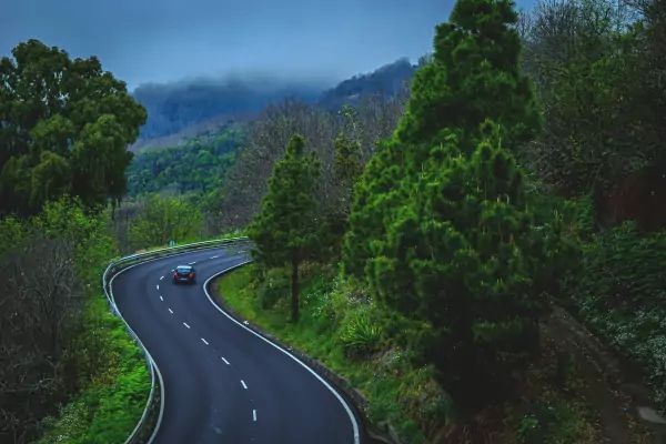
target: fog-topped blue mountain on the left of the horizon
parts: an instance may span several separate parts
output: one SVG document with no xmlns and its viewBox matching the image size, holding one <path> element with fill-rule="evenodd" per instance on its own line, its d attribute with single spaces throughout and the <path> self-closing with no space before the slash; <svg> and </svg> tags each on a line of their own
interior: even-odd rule
<svg viewBox="0 0 666 444">
<path fill-rule="evenodd" d="M 226 122 L 246 118 L 285 98 L 314 102 L 322 90 L 306 83 L 259 78 L 140 85 L 132 94 L 147 109 L 148 121 L 138 142 L 175 134 L 211 120 Z"/>
</svg>

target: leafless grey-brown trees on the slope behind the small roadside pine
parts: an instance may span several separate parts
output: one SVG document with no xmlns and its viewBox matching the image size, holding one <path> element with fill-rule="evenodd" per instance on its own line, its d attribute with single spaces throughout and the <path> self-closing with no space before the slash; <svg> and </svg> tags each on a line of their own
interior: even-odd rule
<svg viewBox="0 0 666 444">
<path fill-rule="evenodd" d="M 294 100 L 269 107 L 253 122 L 248 142 L 225 178 L 221 208 L 215 215 L 220 221 L 219 229 L 243 226 L 252 219 L 265 193 L 273 164 L 282 158 L 293 134 L 303 135 L 306 147 L 319 155 L 322 162 L 319 201 L 324 212 L 335 211 L 343 193 L 334 171 L 335 139 L 342 133 L 357 141 L 365 162 L 377 140 L 389 137 L 395 129 L 405 98 L 406 93 L 392 99 L 362 98 L 354 107 L 353 121 L 341 113 Z"/>
</svg>

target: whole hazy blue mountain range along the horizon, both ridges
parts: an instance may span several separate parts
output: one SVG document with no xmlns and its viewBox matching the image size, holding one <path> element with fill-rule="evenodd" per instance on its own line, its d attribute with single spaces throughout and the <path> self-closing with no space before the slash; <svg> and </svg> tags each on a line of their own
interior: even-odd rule
<svg viewBox="0 0 666 444">
<path fill-rule="evenodd" d="M 186 137 L 219 128 L 229 121 L 252 119 L 268 104 L 285 99 L 299 99 L 335 110 L 364 95 L 395 95 L 404 90 L 415 69 L 408 59 L 402 58 L 336 85 L 321 80 L 275 79 L 270 74 L 143 84 L 133 92 L 148 110 L 148 122 L 141 129 L 137 147 L 147 140 L 186 132 L 182 134 L 184 137 L 168 140 L 178 144 Z"/>
</svg>

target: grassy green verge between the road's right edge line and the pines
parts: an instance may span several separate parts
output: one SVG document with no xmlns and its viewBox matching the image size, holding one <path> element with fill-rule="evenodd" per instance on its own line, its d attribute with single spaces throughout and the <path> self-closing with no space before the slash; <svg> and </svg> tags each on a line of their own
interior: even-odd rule
<svg viewBox="0 0 666 444">
<path fill-rule="evenodd" d="M 337 340 L 339 325 L 329 309 L 334 292 L 331 275 L 311 274 L 302 282 L 301 316 L 289 322 L 287 297 L 272 309 L 262 309 L 252 284 L 254 265 L 248 265 L 218 280 L 216 294 L 235 313 L 282 342 L 313 357 L 340 376 L 367 400 L 367 417 L 375 426 L 387 424 L 408 443 L 424 443 L 426 436 L 410 411 L 411 392 L 422 383 L 423 371 L 405 365 L 401 353 L 384 350 L 350 357 Z M 420 396 L 423 394 L 420 393 Z"/>
</svg>

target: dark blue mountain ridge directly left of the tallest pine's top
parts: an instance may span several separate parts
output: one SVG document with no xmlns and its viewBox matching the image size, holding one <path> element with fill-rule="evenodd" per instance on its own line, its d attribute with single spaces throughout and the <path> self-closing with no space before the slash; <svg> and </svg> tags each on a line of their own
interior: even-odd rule
<svg viewBox="0 0 666 444">
<path fill-rule="evenodd" d="M 363 95 L 396 95 L 407 87 L 416 68 L 408 59 L 398 59 L 369 74 L 354 75 L 342 81 L 337 87 L 324 92 L 319 104 L 334 110 L 344 103 L 353 104 Z"/>
</svg>

